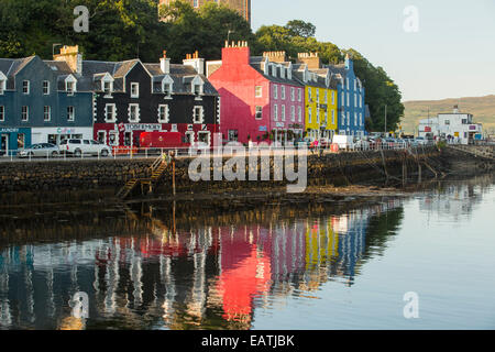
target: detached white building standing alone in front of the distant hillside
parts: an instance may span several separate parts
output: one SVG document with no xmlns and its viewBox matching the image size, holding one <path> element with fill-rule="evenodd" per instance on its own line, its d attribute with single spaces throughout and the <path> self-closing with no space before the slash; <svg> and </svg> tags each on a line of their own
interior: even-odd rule
<svg viewBox="0 0 495 352">
<path fill-rule="evenodd" d="M 451 143 L 470 144 L 481 139 L 483 125 L 473 122 L 471 113 L 459 112 L 455 106 L 452 113 L 439 113 L 437 118 L 419 121 L 419 136 L 450 140 Z"/>
</svg>

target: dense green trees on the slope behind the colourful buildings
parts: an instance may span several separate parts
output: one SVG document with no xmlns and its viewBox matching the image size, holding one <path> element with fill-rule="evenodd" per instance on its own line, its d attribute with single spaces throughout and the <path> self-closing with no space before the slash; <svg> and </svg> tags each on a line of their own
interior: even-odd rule
<svg viewBox="0 0 495 352">
<path fill-rule="evenodd" d="M 88 33 L 74 31 L 74 9 L 78 6 L 89 9 Z M 170 21 L 160 21 L 158 12 Z M 300 52 L 318 52 L 326 64 L 340 63 L 349 53 L 366 89 L 365 103 L 372 116 L 366 129 L 384 130 L 386 105 L 387 130 L 394 130 L 404 114 L 394 80 L 359 51 L 319 42 L 315 33 L 315 25 L 300 20 L 285 26 L 264 25 L 253 33 L 240 14 L 215 2 L 195 11 L 183 1 L 158 9 L 157 0 L 0 0 L 0 57 L 36 54 L 50 59 L 53 44 L 77 44 L 86 59 L 139 57 L 154 63 L 166 50 L 167 56 L 179 63 L 196 51 L 206 59 L 219 59 L 227 38 L 248 41 L 253 55 L 286 51 L 294 59 Z"/>
</svg>

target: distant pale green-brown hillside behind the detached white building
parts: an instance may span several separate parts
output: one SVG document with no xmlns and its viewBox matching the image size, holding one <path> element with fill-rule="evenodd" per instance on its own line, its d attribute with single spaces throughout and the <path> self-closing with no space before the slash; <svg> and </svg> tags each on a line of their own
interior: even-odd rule
<svg viewBox="0 0 495 352">
<path fill-rule="evenodd" d="M 474 121 L 483 123 L 483 129 L 493 131 L 495 134 L 495 95 L 472 98 L 453 98 L 443 100 L 417 100 L 406 101 L 404 119 L 402 121 L 403 130 L 415 132 L 419 120 L 430 117 L 437 117 L 440 112 L 451 112 L 454 106 L 465 113 L 472 113 Z"/>
</svg>

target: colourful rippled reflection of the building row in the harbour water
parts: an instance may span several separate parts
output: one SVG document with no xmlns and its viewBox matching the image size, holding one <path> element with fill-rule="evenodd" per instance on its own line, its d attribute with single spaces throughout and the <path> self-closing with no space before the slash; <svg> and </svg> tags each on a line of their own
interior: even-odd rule
<svg viewBox="0 0 495 352">
<path fill-rule="evenodd" d="M 95 319 L 67 318 L 81 290 L 90 317 L 117 328 L 249 329 L 268 296 L 315 290 L 333 276 L 352 283 L 370 218 L 397 206 L 176 233 L 155 221 L 153 235 L 11 246 L 0 252 L 0 324 L 91 328 Z"/>
</svg>

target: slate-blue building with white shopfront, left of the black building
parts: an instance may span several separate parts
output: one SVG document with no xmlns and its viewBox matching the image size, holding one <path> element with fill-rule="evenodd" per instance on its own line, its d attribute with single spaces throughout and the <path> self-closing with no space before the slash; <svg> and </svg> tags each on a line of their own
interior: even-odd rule
<svg viewBox="0 0 495 352">
<path fill-rule="evenodd" d="M 0 153 L 92 139 L 91 86 L 78 73 L 77 58 L 70 66 L 38 56 L 0 58 Z"/>
</svg>

